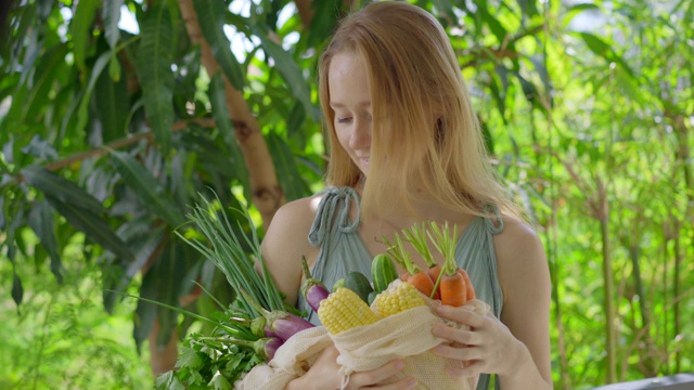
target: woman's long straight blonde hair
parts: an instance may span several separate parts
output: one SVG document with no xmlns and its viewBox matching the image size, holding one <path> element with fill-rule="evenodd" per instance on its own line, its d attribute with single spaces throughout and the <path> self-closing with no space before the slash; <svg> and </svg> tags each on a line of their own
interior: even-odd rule
<svg viewBox="0 0 694 390">
<path fill-rule="evenodd" d="M 329 185 L 357 186 L 361 172 L 340 146 L 330 107 L 331 60 L 363 58 L 373 129 L 364 212 L 410 207 L 415 191 L 451 210 L 485 214 L 486 205 L 518 216 L 497 180 L 458 60 L 441 25 L 399 1 L 374 2 L 347 16 L 319 63 L 319 96 L 330 142 Z M 376 211 L 377 210 L 377 211 Z"/>
</svg>

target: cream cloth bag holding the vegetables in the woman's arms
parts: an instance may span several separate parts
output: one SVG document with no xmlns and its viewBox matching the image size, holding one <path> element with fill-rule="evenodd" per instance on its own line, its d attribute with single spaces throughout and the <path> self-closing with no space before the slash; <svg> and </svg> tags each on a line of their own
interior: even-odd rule
<svg viewBox="0 0 694 390">
<path fill-rule="evenodd" d="M 272 361 L 255 366 L 237 380 L 234 389 L 283 390 L 292 379 L 304 375 L 323 350 L 333 343 L 339 351 L 337 363 L 342 365 L 343 387 L 349 384 L 349 377 L 355 372 L 374 369 L 395 359 L 402 359 L 402 372 L 383 385 L 411 376 L 417 379 L 416 389 L 421 390 L 475 389 L 478 377 L 457 378 L 445 373 L 446 366 L 460 365 L 460 361 L 430 352 L 432 348 L 446 342 L 432 334 L 434 324 L 461 325 L 439 317 L 435 312 L 438 303 L 428 298 L 425 300 L 427 306 L 339 335 L 330 335 L 323 326 L 301 330 L 278 349 Z M 463 308 L 483 315 L 489 312 L 489 306 L 477 299 Z"/>
</svg>

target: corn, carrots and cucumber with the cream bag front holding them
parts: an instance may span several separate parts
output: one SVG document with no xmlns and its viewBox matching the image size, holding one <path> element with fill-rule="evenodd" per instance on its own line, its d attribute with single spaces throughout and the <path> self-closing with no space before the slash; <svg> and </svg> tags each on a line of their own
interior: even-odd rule
<svg viewBox="0 0 694 390">
<path fill-rule="evenodd" d="M 474 389 L 478 377 L 454 378 L 442 373 L 447 365 L 466 363 L 434 354 L 430 349 L 444 339 L 432 335 L 432 326 L 464 325 L 441 318 L 438 304 L 465 306 L 486 314 L 489 306 L 475 299 L 467 273 L 455 264 L 457 229 L 434 222 L 414 225 L 396 234 L 386 253 L 374 257 L 371 263 L 373 284 L 363 283 L 364 275 L 349 273 L 338 281 L 333 291 L 320 301 L 307 301 L 317 309 L 321 323 L 339 351 L 340 373 L 370 370 L 394 360 L 403 359 L 402 375 L 412 376 L 417 389 Z M 426 270 L 420 269 L 409 253 L 406 243 L 423 257 Z M 439 265 L 429 251 L 429 244 L 444 257 Z M 394 261 L 404 272 L 398 274 Z M 307 270 L 305 270 L 307 272 Z M 310 278 L 310 275 L 309 275 Z M 388 379 L 396 380 L 396 379 Z M 387 384 L 382 382 L 382 385 Z"/>
</svg>

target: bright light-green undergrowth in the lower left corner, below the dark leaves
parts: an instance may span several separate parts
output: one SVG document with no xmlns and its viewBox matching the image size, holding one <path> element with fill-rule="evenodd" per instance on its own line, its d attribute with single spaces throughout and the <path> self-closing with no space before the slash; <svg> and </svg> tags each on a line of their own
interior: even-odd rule
<svg viewBox="0 0 694 390">
<path fill-rule="evenodd" d="M 63 284 L 46 270 L 33 273 L 42 264 L 17 259 L 16 268 L 33 275 L 25 278 L 27 294 L 18 310 L 5 288 L 10 285 L 0 286 L 3 388 L 146 388 L 152 382 L 147 356 L 138 355 L 131 336 L 134 302 L 105 313 L 98 299 L 99 266 L 80 258 L 78 246 L 68 251 Z M 0 263 L 2 281 L 11 281 L 12 272 L 9 262 Z"/>
</svg>

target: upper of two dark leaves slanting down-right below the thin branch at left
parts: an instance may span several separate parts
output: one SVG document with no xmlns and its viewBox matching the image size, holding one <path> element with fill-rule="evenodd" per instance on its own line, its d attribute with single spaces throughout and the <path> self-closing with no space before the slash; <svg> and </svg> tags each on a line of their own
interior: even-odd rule
<svg viewBox="0 0 694 390">
<path fill-rule="evenodd" d="M 101 203 L 85 190 L 46 168 L 28 166 L 22 170 L 22 176 L 31 186 L 61 203 L 94 213 L 106 211 Z"/>
</svg>

